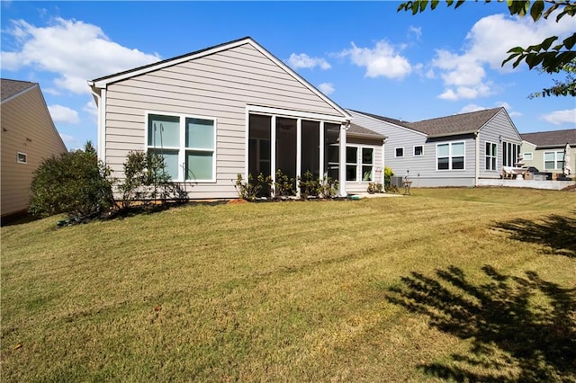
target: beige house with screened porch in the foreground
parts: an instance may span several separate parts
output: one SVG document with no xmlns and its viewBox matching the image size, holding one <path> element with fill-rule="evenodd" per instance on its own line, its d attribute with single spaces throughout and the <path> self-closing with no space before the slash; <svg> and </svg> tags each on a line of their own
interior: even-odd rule
<svg viewBox="0 0 576 383">
<path fill-rule="evenodd" d="M 163 156 L 193 199 L 238 198 L 237 174 L 383 182 L 383 136 L 247 37 L 88 83 L 98 156 L 122 178 L 130 151 Z M 273 145 L 273 143 L 275 143 Z M 380 177 L 380 178 L 378 178 Z"/>
</svg>

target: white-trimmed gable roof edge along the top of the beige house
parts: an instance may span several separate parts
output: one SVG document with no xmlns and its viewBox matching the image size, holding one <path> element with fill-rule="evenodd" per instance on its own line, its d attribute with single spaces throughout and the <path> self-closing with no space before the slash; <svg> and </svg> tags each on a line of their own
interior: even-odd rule
<svg viewBox="0 0 576 383">
<path fill-rule="evenodd" d="M 145 65 L 142 67 L 136 67 L 133 69 L 125 70 L 123 72 L 116 73 L 113 75 L 99 77 L 99 78 L 96 78 L 92 81 L 88 81 L 88 85 L 90 85 L 90 87 L 93 88 L 94 91 L 98 92 L 99 88 L 100 89 L 105 88 L 106 85 L 108 85 L 108 84 L 112 84 L 112 83 L 130 78 L 130 77 L 143 75 L 143 74 L 146 74 L 148 72 L 162 69 L 164 67 L 172 67 L 172 66 L 175 66 L 177 64 L 183 63 L 185 61 L 190 61 L 190 60 L 193 60 L 196 58 L 202 58 L 205 56 L 209 56 L 211 54 L 218 53 L 218 52 L 226 50 L 226 49 L 236 48 L 236 47 L 244 45 L 244 44 L 251 45 L 253 48 L 257 49 L 260 53 L 262 53 L 264 56 L 266 56 L 266 58 L 269 58 L 270 60 L 272 60 L 278 67 L 283 68 L 290 76 L 293 76 L 293 78 L 296 81 L 300 82 L 302 85 L 304 85 L 305 87 L 310 89 L 312 93 L 319 96 L 324 102 L 329 103 L 329 105 L 332 108 L 334 108 L 335 110 L 340 112 L 347 120 L 349 120 L 351 118 L 349 113 L 347 111 L 345 111 L 344 108 L 339 106 L 336 102 L 333 102 L 332 100 L 330 100 L 326 94 L 321 93 L 320 90 L 318 90 L 314 85 L 311 85 L 302 76 L 300 76 L 296 72 L 294 72 L 292 68 L 285 65 L 284 62 L 282 62 L 282 60 L 280 60 L 279 58 L 276 58 L 272 53 L 270 53 L 268 50 L 266 50 L 264 47 L 262 47 L 260 44 L 258 44 L 256 42 L 256 40 L 252 39 L 249 36 L 244 37 L 242 39 L 232 40 L 232 41 L 225 42 L 225 43 L 222 43 L 219 45 L 215 45 L 213 47 L 196 50 L 196 51 L 186 53 L 186 54 L 181 55 L 181 56 L 176 56 L 175 58 L 167 58 L 165 60 L 158 61 L 158 62 L 155 62 L 152 64 L 148 64 L 148 65 Z"/>
</svg>

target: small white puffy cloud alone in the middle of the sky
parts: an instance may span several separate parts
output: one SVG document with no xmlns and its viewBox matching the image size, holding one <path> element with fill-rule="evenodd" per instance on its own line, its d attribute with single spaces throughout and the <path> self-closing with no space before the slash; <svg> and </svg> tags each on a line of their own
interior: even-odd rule
<svg viewBox="0 0 576 383">
<path fill-rule="evenodd" d="M 374 48 L 359 48 L 352 42 L 351 49 L 345 49 L 339 54 L 349 57 L 358 67 L 366 68 L 366 77 L 387 77 L 402 79 L 410 75 L 412 67 L 408 58 L 401 56 L 387 41 L 377 41 Z"/>
</svg>

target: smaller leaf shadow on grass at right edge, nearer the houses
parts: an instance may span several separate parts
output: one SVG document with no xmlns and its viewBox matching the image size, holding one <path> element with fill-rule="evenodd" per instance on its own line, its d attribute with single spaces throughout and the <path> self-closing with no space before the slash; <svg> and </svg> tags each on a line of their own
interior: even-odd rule
<svg viewBox="0 0 576 383">
<path fill-rule="evenodd" d="M 576 218 L 552 215 L 542 222 L 514 219 L 500 222 L 496 228 L 512 239 L 549 246 L 553 254 L 576 257 Z"/>
</svg>

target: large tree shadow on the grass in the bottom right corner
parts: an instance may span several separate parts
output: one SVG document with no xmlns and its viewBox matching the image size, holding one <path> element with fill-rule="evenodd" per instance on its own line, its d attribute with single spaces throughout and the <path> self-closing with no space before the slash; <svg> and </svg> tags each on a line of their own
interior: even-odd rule
<svg viewBox="0 0 576 383">
<path fill-rule="evenodd" d="M 429 317 L 430 325 L 470 343 L 446 362 L 419 366 L 456 381 L 576 381 L 576 288 L 518 278 L 491 266 L 484 284 L 467 281 L 455 266 L 433 278 L 412 272 L 388 300 Z"/>
</svg>

